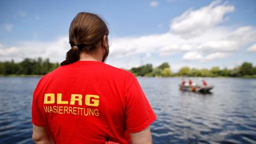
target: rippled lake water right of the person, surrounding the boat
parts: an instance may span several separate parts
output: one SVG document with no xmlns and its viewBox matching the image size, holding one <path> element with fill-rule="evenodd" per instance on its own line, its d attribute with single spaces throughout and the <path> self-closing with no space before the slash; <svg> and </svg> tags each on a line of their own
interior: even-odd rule
<svg viewBox="0 0 256 144">
<path fill-rule="evenodd" d="M 255 79 L 207 78 L 207 94 L 178 91 L 178 78 L 138 79 L 158 116 L 154 143 L 256 142 Z"/>
</svg>

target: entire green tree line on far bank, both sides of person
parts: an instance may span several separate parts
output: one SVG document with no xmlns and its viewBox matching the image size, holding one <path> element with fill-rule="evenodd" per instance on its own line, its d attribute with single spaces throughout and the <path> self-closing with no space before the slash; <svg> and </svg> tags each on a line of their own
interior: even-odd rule
<svg viewBox="0 0 256 144">
<path fill-rule="evenodd" d="M 58 62 L 51 63 L 49 59 L 42 58 L 30 59 L 26 58 L 21 62 L 4 61 L 0 62 L 1 76 L 31 76 L 31 75 L 45 75 L 50 71 L 58 68 Z M 256 78 L 256 66 L 251 62 L 244 62 L 241 66 L 233 69 L 220 69 L 219 67 L 212 67 L 211 69 L 196 69 L 189 67 L 182 67 L 177 73 L 171 71 L 170 65 L 167 62 L 153 68 L 151 64 L 146 64 L 140 67 L 131 68 L 129 71 L 135 76 L 147 77 L 175 77 L 175 76 L 190 76 L 190 77 L 253 77 Z"/>
</svg>

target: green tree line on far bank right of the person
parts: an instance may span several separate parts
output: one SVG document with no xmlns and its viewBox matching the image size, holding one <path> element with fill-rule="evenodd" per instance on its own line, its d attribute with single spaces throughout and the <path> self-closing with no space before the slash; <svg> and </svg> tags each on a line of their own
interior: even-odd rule
<svg viewBox="0 0 256 144">
<path fill-rule="evenodd" d="M 211 69 L 197 69 L 188 66 L 181 67 L 177 73 L 171 71 L 170 65 L 167 62 L 153 68 L 151 64 L 146 64 L 140 67 L 134 67 L 129 70 L 135 76 L 149 77 L 173 77 L 173 76 L 190 76 L 190 77 L 255 77 L 256 66 L 251 62 L 243 62 L 242 65 L 233 69 L 212 67 Z"/>
</svg>

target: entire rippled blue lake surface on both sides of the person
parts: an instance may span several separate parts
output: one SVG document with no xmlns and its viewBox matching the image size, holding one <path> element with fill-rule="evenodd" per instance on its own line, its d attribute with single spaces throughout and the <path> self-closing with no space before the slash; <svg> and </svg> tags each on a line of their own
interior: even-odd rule
<svg viewBox="0 0 256 144">
<path fill-rule="evenodd" d="M 39 78 L 0 77 L 0 143 L 33 143 Z M 211 94 L 182 92 L 179 78 L 138 77 L 157 115 L 154 143 L 256 143 L 256 79 L 205 79 L 215 86 Z"/>
</svg>

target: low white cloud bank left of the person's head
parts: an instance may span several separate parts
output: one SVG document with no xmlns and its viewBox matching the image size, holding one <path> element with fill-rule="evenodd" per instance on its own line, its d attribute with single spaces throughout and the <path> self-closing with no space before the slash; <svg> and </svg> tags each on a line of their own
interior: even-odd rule
<svg viewBox="0 0 256 144">
<path fill-rule="evenodd" d="M 61 37 L 53 42 L 24 41 L 15 46 L 0 45 L 1 61 L 14 59 L 21 61 L 24 58 L 50 58 L 53 62 L 65 60 L 67 51 L 70 49 L 68 37 Z"/>
</svg>

